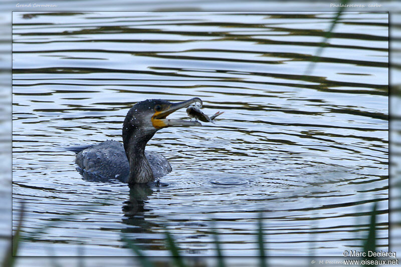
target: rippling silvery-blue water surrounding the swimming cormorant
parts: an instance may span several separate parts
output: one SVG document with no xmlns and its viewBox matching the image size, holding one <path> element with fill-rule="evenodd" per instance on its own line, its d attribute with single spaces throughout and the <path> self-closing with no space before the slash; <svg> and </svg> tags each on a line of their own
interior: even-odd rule
<svg viewBox="0 0 401 267">
<path fill-rule="evenodd" d="M 345 13 L 13 13 L 13 202 L 21 255 L 334 255 L 362 244 L 373 202 L 388 250 L 388 15 Z M 137 101 L 199 97 L 216 124 L 170 127 L 168 186 L 131 189 L 75 170 L 68 146 L 121 140 Z M 184 110 L 171 115 L 185 118 Z M 14 216 L 14 222 L 17 216 Z M 216 223 L 213 224 L 212 221 Z M 52 250 L 50 250 L 52 249 Z"/>
</svg>

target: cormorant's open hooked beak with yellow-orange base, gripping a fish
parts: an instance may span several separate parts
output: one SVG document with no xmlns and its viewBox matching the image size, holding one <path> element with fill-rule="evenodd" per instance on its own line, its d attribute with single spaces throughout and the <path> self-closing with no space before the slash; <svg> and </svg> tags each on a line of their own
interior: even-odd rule
<svg viewBox="0 0 401 267">
<path fill-rule="evenodd" d="M 202 107 L 202 100 L 198 97 L 191 98 L 186 101 L 178 102 L 178 103 L 171 103 L 171 105 L 164 108 L 162 111 L 156 111 L 152 116 L 152 125 L 156 129 L 161 129 L 169 126 L 202 126 L 197 121 L 185 121 L 185 120 L 178 120 L 178 119 L 166 119 L 168 115 L 177 111 L 182 108 L 186 108 L 189 105 L 199 102 Z"/>
</svg>

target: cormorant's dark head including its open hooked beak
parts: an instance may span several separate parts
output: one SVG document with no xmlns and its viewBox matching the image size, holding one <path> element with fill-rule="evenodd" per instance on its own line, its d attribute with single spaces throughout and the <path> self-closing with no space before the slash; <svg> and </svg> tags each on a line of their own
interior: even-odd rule
<svg viewBox="0 0 401 267">
<path fill-rule="evenodd" d="M 169 126 L 202 126 L 197 121 L 167 119 L 167 116 L 174 111 L 186 108 L 196 102 L 202 105 L 202 100 L 197 97 L 179 103 L 171 103 L 162 99 L 148 99 L 138 102 L 125 117 L 123 135 L 124 132 L 132 130 L 132 128 L 142 130 L 147 134 L 154 134 L 156 131 Z"/>
</svg>

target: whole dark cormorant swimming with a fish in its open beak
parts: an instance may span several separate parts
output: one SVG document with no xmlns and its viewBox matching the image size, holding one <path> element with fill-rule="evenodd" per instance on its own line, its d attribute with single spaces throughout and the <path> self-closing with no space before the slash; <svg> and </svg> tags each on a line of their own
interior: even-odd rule
<svg viewBox="0 0 401 267">
<path fill-rule="evenodd" d="M 122 127 L 123 144 L 107 140 L 80 151 L 79 168 L 94 176 L 126 183 L 147 183 L 171 171 L 170 163 L 158 153 L 145 151 L 146 143 L 160 129 L 169 126 L 202 126 L 197 121 L 166 119 L 174 111 L 202 100 L 195 97 L 179 103 L 150 99 L 136 103 Z"/>
</svg>

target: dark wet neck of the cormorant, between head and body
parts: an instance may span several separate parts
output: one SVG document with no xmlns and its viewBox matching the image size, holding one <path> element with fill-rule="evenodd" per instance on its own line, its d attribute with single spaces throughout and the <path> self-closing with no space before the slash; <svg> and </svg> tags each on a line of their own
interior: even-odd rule
<svg viewBox="0 0 401 267">
<path fill-rule="evenodd" d="M 123 125 L 123 143 L 125 154 L 129 162 L 128 183 L 147 183 L 154 180 L 152 169 L 145 156 L 145 146 L 153 137 L 153 133 L 146 133 L 144 130 L 132 124 Z"/>
</svg>

